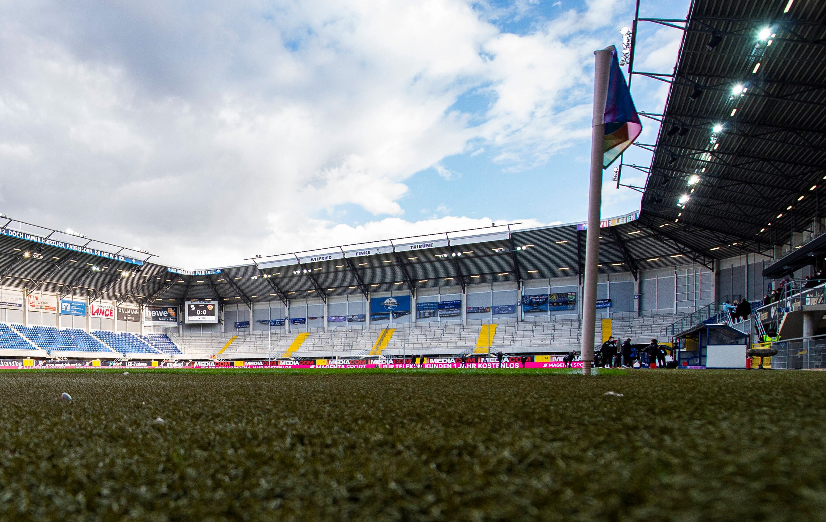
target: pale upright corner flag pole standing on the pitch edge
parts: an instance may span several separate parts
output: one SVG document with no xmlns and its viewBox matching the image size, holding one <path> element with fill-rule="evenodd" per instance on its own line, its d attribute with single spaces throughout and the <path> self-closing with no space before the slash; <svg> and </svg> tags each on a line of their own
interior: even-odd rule
<svg viewBox="0 0 826 522">
<path fill-rule="evenodd" d="M 594 116 L 591 122 L 591 186 L 588 192 L 588 230 L 585 243 L 585 283 L 582 288 L 582 374 L 591 375 L 596 330 L 596 276 L 600 259 L 602 159 L 605 154 L 605 99 L 608 97 L 611 50 L 594 51 Z"/>
</svg>

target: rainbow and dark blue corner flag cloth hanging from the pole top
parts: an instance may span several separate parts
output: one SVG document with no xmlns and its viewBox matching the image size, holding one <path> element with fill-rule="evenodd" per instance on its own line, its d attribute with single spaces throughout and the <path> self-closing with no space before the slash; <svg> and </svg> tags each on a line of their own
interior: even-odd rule
<svg viewBox="0 0 826 522">
<path fill-rule="evenodd" d="M 602 168 L 614 163 L 629 145 L 634 143 L 643 124 L 639 122 L 634 100 L 622 69 L 619 69 L 616 47 L 611 45 L 611 69 L 608 74 L 608 96 L 605 98 L 605 154 L 602 156 Z"/>
</svg>

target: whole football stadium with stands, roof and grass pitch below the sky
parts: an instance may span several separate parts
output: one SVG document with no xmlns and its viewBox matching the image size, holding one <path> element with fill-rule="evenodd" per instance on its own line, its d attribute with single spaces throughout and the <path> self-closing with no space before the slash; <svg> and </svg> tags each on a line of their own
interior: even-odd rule
<svg viewBox="0 0 826 522">
<path fill-rule="evenodd" d="M 820 520 L 824 21 L 638 14 L 622 74 L 667 97 L 599 227 L 209 268 L 3 215 L 2 518 Z M 645 24 L 681 31 L 672 70 L 634 64 Z"/>
</svg>

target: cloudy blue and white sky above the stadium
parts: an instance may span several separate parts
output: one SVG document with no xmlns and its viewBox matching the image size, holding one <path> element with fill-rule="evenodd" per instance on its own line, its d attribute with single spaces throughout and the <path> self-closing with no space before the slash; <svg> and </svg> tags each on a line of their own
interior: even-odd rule
<svg viewBox="0 0 826 522">
<path fill-rule="evenodd" d="M 687 4 L 643 0 L 641 16 Z M 584 221 L 592 51 L 621 46 L 633 7 L 2 2 L 0 211 L 191 269 Z M 671 72 L 681 31 L 638 32 L 635 69 Z M 634 78 L 638 109 L 661 110 L 666 88 Z M 638 208 L 605 184 L 603 216 Z"/>
</svg>

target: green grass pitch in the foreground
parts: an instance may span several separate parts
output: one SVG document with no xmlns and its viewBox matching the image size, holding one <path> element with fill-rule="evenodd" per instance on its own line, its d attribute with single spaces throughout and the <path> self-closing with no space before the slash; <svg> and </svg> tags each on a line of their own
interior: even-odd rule
<svg viewBox="0 0 826 522">
<path fill-rule="evenodd" d="M 0 520 L 826 520 L 824 447 L 816 372 L 0 373 Z"/>
</svg>

